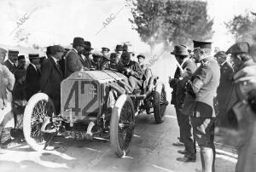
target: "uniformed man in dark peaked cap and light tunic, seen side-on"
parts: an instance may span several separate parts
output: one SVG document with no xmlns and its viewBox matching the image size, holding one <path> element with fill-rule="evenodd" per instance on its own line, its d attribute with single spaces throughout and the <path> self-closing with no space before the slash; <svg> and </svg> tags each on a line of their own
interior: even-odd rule
<svg viewBox="0 0 256 172">
<path fill-rule="evenodd" d="M 215 96 L 220 78 L 218 62 L 213 59 L 211 51 L 212 43 L 194 41 L 195 62 L 201 62 L 201 66 L 187 84 L 188 95 L 192 96 L 193 103 L 186 105 L 187 97 L 184 100 L 184 108 L 190 108 L 188 115 L 190 115 L 195 141 L 200 147 L 204 172 L 214 171 Z"/>
</svg>

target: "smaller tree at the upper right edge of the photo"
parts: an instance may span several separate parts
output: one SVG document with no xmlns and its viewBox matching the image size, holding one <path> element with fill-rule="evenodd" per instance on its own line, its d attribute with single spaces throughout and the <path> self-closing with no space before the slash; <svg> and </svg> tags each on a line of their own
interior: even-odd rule
<svg viewBox="0 0 256 172">
<path fill-rule="evenodd" d="M 253 12 L 236 15 L 225 25 L 235 37 L 236 42 L 247 41 L 252 43 L 254 37 L 256 37 L 256 14 Z"/>
</svg>

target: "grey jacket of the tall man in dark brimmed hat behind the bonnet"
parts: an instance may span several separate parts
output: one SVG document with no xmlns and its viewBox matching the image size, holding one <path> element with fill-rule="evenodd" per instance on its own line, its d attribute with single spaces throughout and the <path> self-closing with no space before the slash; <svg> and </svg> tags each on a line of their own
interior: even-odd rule
<svg viewBox="0 0 256 172">
<path fill-rule="evenodd" d="M 84 66 L 83 62 L 82 57 L 74 49 L 70 49 L 65 58 L 65 77 L 79 71 Z"/>
</svg>

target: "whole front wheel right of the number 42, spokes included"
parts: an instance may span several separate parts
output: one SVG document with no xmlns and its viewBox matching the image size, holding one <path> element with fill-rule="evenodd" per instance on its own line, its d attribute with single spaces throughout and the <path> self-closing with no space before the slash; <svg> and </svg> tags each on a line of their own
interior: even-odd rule
<svg viewBox="0 0 256 172">
<path fill-rule="evenodd" d="M 120 95 L 110 121 L 110 143 L 119 157 L 130 151 L 135 127 L 135 111 L 129 95 Z"/>
</svg>

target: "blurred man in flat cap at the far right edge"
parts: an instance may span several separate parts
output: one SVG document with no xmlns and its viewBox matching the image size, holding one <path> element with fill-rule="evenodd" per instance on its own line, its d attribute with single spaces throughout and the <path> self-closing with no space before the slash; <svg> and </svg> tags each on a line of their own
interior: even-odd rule
<svg viewBox="0 0 256 172">
<path fill-rule="evenodd" d="M 249 43 L 235 43 L 226 53 L 238 59 L 241 65 L 234 74 L 235 84 L 230 88 L 231 93 L 226 95 L 226 113 L 219 117 L 217 135 L 224 138 L 225 144 L 236 147 L 236 172 L 255 171 L 256 63 L 250 55 Z"/>
</svg>

